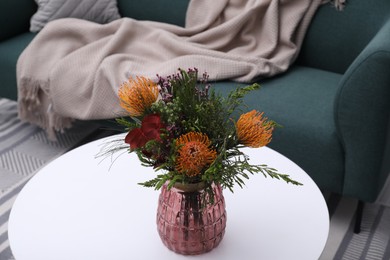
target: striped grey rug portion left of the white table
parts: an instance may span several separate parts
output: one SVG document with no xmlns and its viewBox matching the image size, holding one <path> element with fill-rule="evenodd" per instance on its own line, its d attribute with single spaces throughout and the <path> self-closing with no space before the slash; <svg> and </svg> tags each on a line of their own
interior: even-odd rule
<svg viewBox="0 0 390 260">
<path fill-rule="evenodd" d="M 17 118 L 16 102 L 0 98 L 0 260 L 13 259 L 8 243 L 7 222 L 17 194 L 42 166 L 77 146 L 97 131 L 97 125 L 76 123 L 57 136 Z"/>
</svg>

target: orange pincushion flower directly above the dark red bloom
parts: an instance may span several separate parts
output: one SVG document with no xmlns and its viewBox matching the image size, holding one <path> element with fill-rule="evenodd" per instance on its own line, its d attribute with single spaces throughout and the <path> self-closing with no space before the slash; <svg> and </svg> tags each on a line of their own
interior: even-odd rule
<svg viewBox="0 0 390 260">
<path fill-rule="evenodd" d="M 158 86 L 149 78 L 129 78 L 118 91 L 119 104 L 130 116 L 142 116 L 158 98 Z"/>
</svg>

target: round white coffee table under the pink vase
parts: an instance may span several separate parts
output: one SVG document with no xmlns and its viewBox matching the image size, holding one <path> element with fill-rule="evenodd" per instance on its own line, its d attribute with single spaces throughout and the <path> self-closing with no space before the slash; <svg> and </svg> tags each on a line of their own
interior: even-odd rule
<svg viewBox="0 0 390 260">
<path fill-rule="evenodd" d="M 122 154 L 113 164 L 95 159 L 104 142 L 59 157 L 20 192 L 9 219 L 16 260 L 189 258 L 160 241 L 155 223 L 159 191 L 137 185 L 154 171 L 133 154 Z M 268 164 L 304 186 L 255 175 L 244 189 L 224 191 L 225 237 L 213 251 L 191 259 L 318 259 L 329 230 L 320 190 L 281 154 L 269 148 L 246 152 L 252 163 Z"/>
</svg>

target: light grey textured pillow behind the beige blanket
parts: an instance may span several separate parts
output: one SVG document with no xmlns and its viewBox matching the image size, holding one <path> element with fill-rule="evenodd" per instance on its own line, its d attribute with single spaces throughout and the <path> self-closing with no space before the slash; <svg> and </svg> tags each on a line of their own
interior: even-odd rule
<svg viewBox="0 0 390 260">
<path fill-rule="evenodd" d="M 35 0 L 38 11 L 31 17 L 31 32 L 40 31 L 48 22 L 65 17 L 108 23 L 119 19 L 116 0 Z"/>
</svg>

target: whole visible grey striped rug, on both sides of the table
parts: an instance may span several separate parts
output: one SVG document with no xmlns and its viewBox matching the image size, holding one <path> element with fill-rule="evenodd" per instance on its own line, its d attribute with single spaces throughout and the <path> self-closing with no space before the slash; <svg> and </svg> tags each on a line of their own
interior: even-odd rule
<svg viewBox="0 0 390 260">
<path fill-rule="evenodd" d="M 15 102 L 0 99 L 0 260 L 14 259 L 7 237 L 7 222 L 12 204 L 24 184 L 43 165 L 81 144 L 81 140 L 95 130 L 96 126 L 79 124 L 59 135 L 58 142 L 51 142 L 41 129 L 17 119 Z M 104 134 L 89 139 L 102 136 Z M 362 231 L 357 235 L 353 233 L 357 201 L 326 192 L 324 197 L 331 221 L 321 260 L 390 260 L 390 207 L 366 204 Z"/>
</svg>

